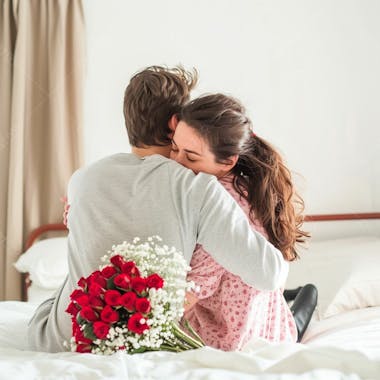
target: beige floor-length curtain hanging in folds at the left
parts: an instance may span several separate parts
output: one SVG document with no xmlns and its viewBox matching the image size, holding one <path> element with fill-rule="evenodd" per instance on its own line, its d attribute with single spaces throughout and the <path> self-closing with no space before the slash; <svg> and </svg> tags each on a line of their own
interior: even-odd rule
<svg viewBox="0 0 380 380">
<path fill-rule="evenodd" d="M 29 232 L 60 222 L 82 163 L 81 0 L 0 0 L 0 299 L 20 299 L 13 263 Z"/>
</svg>

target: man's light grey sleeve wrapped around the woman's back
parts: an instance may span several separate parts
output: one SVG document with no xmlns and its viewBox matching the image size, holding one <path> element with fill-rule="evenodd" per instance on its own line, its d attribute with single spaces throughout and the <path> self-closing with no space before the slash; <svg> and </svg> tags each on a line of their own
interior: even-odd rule
<svg viewBox="0 0 380 380">
<path fill-rule="evenodd" d="M 280 287 L 289 270 L 281 252 L 251 229 L 242 209 L 216 178 L 210 179 L 203 194 L 197 242 L 246 284 L 261 290 Z"/>
</svg>

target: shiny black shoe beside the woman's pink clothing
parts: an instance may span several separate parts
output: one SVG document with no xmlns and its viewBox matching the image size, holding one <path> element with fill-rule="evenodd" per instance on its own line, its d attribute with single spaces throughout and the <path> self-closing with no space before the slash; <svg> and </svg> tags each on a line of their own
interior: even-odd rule
<svg viewBox="0 0 380 380">
<path fill-rule="evenodd" d="M 317 301 L 317 288 L 312 284 L 307 284 L 303 286 L 301 290 L 298 292 L 292 306 L 290 307 L 290 310 L 293 313 L 294 320 L 297 326 L 297 342 L 301 341 L 303 334 L 305 333 L 306 328 L 309 325 L 315 307 L 317 306 Z"/>
</svg>

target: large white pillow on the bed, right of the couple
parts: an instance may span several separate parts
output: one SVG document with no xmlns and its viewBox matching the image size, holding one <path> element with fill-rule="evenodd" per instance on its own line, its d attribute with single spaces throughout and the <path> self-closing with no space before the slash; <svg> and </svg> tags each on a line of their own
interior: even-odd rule
<svg viewBox="0 0 380 380">
<path fill-rule="evenodd" d="M 363 236 L 317 241 L 290 263 L 286 288 L 313 283 L 320 319 L 380 306 L 380 238 Z"/>
</svg>

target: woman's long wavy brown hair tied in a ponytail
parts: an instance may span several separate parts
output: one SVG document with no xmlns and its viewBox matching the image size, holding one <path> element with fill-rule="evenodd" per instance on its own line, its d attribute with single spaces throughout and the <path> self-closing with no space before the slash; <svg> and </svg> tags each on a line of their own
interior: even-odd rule
<svg viewBox="0 0 380 380">
<path fill-rule="evenodd" d="M 286 260 L 298 258 L 297 243 L 309 237 L 301 230 L 303 200 L 280 154 L 253 134 L 240 102 L 223 94 L 202 96 L 183 107 L 180 119 L 206 139 L 216 162 L 239 156 L 232 169 L 233 186 L 249 202 L 251 219 L 262 223 Z"/>
</svg>

